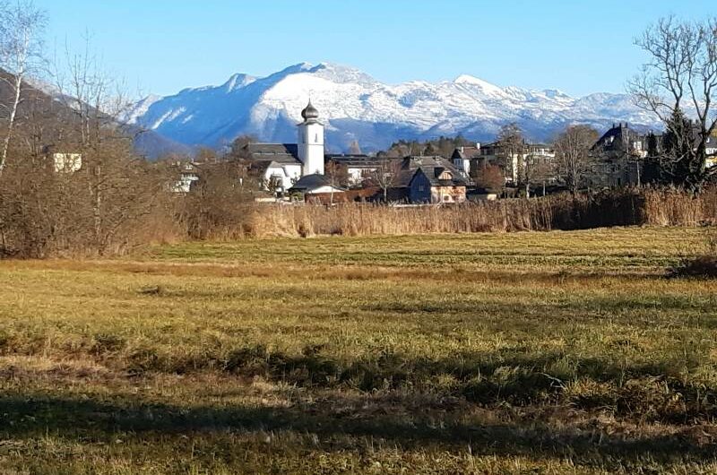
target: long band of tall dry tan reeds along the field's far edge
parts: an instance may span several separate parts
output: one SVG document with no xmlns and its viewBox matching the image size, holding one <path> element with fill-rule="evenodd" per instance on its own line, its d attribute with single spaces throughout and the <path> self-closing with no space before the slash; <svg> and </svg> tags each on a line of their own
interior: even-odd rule
<svg viewBox="0 0 717 475">
<path fill-rule="evenodd" d="M 370 203 L 335 206 L 261 205 L 246 212 L 235 232 L 244 236 L 371 236 L 424 233 L 547 231 L 610 226 L 696 226 L 717 222 L 717 190 L 692 196 L 678 190 L 625 189 L 459 205 L 393 207 Z"/>
</svg>

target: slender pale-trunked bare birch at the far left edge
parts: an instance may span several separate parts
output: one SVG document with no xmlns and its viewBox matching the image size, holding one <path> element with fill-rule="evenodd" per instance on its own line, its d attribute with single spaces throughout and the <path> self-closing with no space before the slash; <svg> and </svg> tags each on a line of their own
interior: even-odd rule
<svg viewBox="0 0 717 475">
<path fill-rule="evenodd" d="M 9 74 L 0 75 L 0 81 L 10 88 L 12 94 L 10 104 L 2 105 L 7 114 L 7 125 L 0 150 L 0 174 L 7 161 L 25 82 L 31 74 L 38 73 L 43 63 L 42 34 L 46 24 L 45 11 L 30 0 L 21 0 L 12 6 L 0 4 L 0 67 Z"/>
</svg>

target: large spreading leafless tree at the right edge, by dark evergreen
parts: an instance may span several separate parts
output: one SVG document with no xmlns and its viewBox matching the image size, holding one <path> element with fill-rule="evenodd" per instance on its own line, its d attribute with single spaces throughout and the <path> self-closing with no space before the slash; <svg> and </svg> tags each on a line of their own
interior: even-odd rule
<svg viewBox="0 0 717 475">
<path fill-rule="evenodd" d="M 713 108 L 717 89 L 717 18 L 705 22 L 680 22 L 663 18 L 635 39 L 650 57 L 629 83 L 635 102 L 660 117 L 666 133 L 678 143 L 660 159 L 679 185 L 699 193 L 717 168 L 707 167 L 707 141 L 717 125 Z M 696 121 L 684 126 L 674 120 L 680 111 Z M 687 130 L 684 130 L 686 129 Z"/>
</svg>

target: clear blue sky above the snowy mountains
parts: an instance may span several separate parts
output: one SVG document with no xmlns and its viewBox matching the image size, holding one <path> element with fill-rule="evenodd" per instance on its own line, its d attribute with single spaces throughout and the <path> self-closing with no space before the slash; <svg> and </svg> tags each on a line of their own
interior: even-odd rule
<svg viewBox="0 0 717 475">
<path fill-rule="evenodd" d="M 352 65 L 383 82 L 453 80 L 573 95 L 624 91 L 643 62 L 633 39 L 713 0 L 36 0 L 48 46 L 82 47 L 143 93 L 171 94 L 303 61 Z"/>
</svg>

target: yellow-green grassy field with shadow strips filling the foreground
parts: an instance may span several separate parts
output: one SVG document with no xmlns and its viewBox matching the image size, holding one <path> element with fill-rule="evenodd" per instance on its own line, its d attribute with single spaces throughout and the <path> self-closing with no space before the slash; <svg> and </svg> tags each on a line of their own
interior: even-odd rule
<svg viewBox="0 0 717 475">
<path fill-rule="evenodd" d="M 717 472 L 700 229 L 0 263 L 0 473 Z"/>
</svg>

